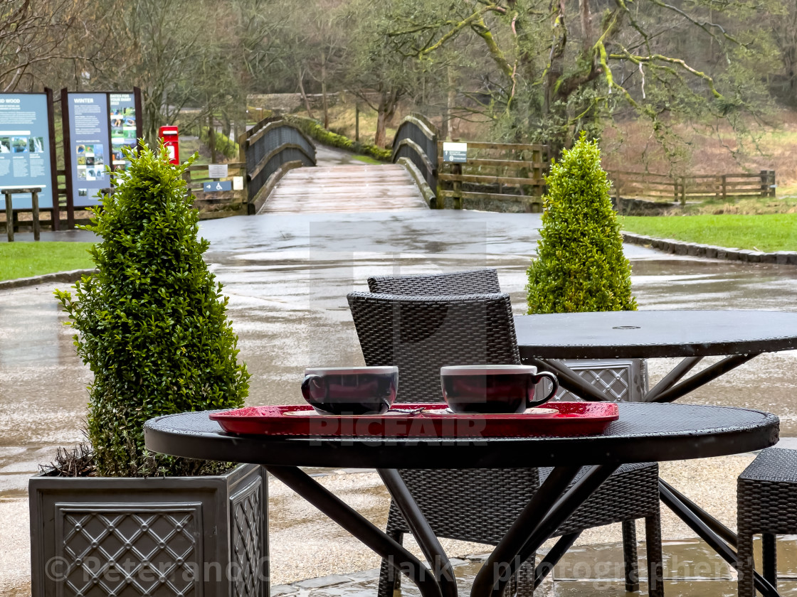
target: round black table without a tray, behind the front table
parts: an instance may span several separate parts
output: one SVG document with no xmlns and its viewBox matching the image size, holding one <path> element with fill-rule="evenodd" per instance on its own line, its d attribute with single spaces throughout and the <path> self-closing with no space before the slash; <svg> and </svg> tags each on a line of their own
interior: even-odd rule
<svg viewBox="0 0 797 597">
<path fill-rule="evenodd" d="M 515 318 L 521 359 L 552 371 L 584 400 L 611 400 L 560 359 L 682 357 L 644 396 L 672 402 L 761 353 L 797 349 L 797 313 L 756 310 L 650 310 L 521 315 Z M 705 357 L 724 359 L 682 380 Z M 728 564 L 736 535 L 667 483 L 662 501 Z M 773 591 L 765 594 L 776 595 Z"/>
</svg>

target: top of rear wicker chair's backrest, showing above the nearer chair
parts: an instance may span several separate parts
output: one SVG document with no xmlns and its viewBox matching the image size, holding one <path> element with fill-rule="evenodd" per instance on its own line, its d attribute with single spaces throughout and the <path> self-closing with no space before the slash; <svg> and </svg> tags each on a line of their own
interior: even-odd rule
<svg viewBox="0 0 797 597">
<path fill-rule="evenodd" d="M 482 295 L 501 292 L 494 269 L 448 274 L 375 275 L 368 290 L 380 295 Z"/>
</svg>

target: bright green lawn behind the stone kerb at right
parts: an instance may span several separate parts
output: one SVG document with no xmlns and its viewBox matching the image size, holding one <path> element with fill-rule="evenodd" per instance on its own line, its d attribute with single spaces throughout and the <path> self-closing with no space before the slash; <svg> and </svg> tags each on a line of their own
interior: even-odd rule
<svg viewBox="0 0 797 597">
<path fill-rule="evenodd" d="M 620 217 L 620 222 L 627 232 L 658 238 L 764 252 L 797 251 L 797 213 Z"/>
</svg>

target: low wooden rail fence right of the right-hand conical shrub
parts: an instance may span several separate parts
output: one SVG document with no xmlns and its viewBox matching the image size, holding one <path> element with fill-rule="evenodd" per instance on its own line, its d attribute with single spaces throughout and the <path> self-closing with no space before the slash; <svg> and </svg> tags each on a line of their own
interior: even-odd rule
<svg viewBox="0 0 797 597">
<path fill-rule="evenodd" d="M 758 174 L 701 174 L 671 177 L 646 172 L 608 172 L 615 197 L 648 197 L 665 201 L 727 199 L 728 197 L 775 197 L 775 170 Z"/>
</svg>

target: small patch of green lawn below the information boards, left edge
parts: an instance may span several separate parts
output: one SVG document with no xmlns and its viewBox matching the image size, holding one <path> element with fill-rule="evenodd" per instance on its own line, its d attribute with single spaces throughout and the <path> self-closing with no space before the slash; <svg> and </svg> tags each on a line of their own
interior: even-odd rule
<svg viewBox="0 0 797 597">
<path fill-rule="evenodd" d="M 0 243 L 0 280 L 94 267 L 91 243 Z"/>
</svg>

